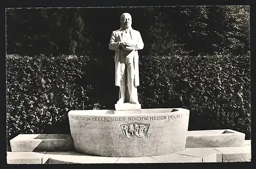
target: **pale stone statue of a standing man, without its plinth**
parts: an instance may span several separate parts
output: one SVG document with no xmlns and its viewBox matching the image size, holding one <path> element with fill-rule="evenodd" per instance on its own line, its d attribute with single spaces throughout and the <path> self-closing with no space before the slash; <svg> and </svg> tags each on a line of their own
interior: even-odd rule
<svg viewBox="0 0 256 169">
<path fill-rule="evenodd" d="M 139 31 L 132 29 L 132 16 L 123 13 L 121 27 L 113 31 L 109 49 L 115 50 L 115 85 L 119 87 L 119 103 L 139 104 L 137 87 L 139 86 L 139 55 L 143 49 Z"/>
</svg>

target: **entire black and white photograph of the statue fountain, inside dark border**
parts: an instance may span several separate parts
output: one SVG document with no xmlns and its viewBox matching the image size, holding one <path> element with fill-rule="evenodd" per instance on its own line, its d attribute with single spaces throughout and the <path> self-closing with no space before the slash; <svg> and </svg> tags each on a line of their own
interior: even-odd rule
<svg viewBox="0 0 256 169">
<path fill-rule="evenodd" d="M 7 164 L 250 162 L 250 10 L 6 8 Z"/>
</svg>

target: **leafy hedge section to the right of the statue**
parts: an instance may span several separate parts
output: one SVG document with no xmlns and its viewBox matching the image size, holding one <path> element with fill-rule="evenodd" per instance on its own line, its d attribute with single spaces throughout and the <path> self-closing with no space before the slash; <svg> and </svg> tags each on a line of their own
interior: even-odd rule
<svg viewBox="0 0 256 169">
<path fill-rule="evenodd" d="M 250 57 L 141 57 L 143 108 L 184 107 L 189 129 L 230 128 L 250 137 Z"/>
</svg>

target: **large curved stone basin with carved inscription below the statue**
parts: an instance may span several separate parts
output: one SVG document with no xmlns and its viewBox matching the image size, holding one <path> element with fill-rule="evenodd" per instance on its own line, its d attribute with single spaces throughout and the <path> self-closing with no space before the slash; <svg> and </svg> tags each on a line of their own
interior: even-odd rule
<svg viewBox="0 0 256 169">
<path fill-rule="evenodd" d="M 128 111 L 128 110 L 127 110 Z M 189 110 L 72 110 L 71 136 L 77 152 L 106 157 L 147 157 L 185 149 Z"/>
</svg>

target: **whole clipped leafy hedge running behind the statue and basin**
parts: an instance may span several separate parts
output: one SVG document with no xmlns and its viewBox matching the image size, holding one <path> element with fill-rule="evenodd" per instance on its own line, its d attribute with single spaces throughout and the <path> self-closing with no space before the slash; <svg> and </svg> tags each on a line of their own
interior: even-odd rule
<svg viewBox="0 0 256 169">
<path fill-rule="evenodd" d="M 8 139 L 19 133 L 69 133 L 69 110 L 114 108 L 114 60 L 6 59 Z M 189 109 L 189 130 L 234 129 L 250 138 L 249 64 L 248 55 L 142 56 L 139 101 L 143 108 Z"/>
</svg>

